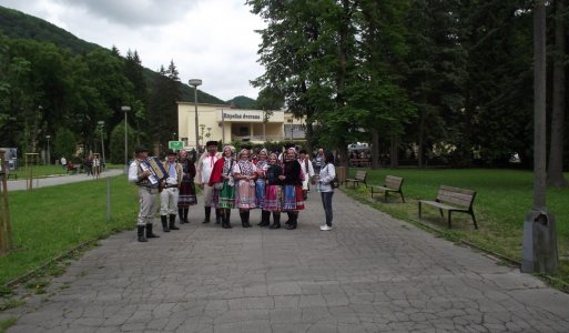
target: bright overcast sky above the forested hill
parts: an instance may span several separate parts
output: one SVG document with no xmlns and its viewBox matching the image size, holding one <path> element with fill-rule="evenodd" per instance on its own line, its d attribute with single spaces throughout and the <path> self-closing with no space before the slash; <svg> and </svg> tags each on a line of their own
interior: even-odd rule
<svg viewBox="0 0 569 333">
<path fill-rule="evenodd" d="M 202 79 L 203 90 L 222 100 L 256 99 L 250 80 L 263 21 L 245 0 L 0 0 L 0 6 L 47 20 L 74 36 L 121 54 L 136 50 L 142 65 L 158 70 L 170 60 L 180 80 Z"/>
</svg>

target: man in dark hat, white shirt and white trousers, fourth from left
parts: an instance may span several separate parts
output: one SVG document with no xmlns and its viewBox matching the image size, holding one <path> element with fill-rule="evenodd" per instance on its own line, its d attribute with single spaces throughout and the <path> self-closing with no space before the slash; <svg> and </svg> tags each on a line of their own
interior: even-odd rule
<svg viewBox="0 0 569 333">
<path fill-rule="evenodd" d="M 212 213 L 212 199 L 213 199 L 213 186 L 210 185 L 210 178 L 212 175 L 213 167 L 219 159 L 221 153 L 217 152 L 217 141 L 207 141 L 205 143 L 206 152 L 204 152 L 196 167 L 195 181 L 197 186 L 203 191 L 203 205 L 205 208 L 205 219 L 202 223 L 210 223 L 210 215 Z M 221 222 L 220 210 L 215 210 L 215 223 Z"/>
</svg>

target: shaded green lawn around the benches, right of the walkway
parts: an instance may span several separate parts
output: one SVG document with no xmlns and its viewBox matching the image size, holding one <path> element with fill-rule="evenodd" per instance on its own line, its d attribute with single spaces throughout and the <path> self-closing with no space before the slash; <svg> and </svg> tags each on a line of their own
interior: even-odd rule
<svg viewBox="0 0 569 333">
<path fill-rule="evenodd" d="M 355 170 L 350 170 L 355 174 Z M 440 184 L 475 190 L 474 209 L 478 230 L 474 230 L 468 214 L 453 214 L 453 229 L 446 229 L 436 209 L 425 208 L 421 222 L 440 230 L 450 240 L 470 242 L 515 261 L 521 261 L 524 221 L 532 208 L 532 172 L 519 170 L 486 169 L 380 169 L 368 170 L 368 184 L 383 184 L 385 175 L 405 179 L 403 191 L 407 203 L 399 203 L 397 195 L 389 203 L 370 199 L 369 190 L 359 186 L 346 192 L 358 200 L 373 204 L 395 218 L 418 222 L 418 199 L 435 199 Z M 569 174 L 566 175 L 569 178 Z M 342 186 L 344 190 L 345 188 Z M 374 195 L 375 196 L 375 195 Z M 553 213 L 558 234 L 559 272 L 555 276 L 569 283 L 569 189 L 548 188 L 547 209 Z M 446 218 L 446 215 L 445 215 Z"/>
</svg>

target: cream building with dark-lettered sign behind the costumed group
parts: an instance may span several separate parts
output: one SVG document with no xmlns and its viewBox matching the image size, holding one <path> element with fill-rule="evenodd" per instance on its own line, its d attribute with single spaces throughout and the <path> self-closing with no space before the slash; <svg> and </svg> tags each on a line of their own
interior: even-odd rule
<svg viewBox="0 0 569 333">
<path fill-rule="evenodd" d="M 177 139 L 186 149 L 195 148 L 195 103 L 177 102 Z M 206 141 L 223 143 L 248 141 L 304 140 L 304 119 L 295 119 L 291 112 L 273 111 L 266 121 L 263 110 L 232 109 L 226 104 L 197 103 L 197 137 L 200 147 Z"/>
</svg>

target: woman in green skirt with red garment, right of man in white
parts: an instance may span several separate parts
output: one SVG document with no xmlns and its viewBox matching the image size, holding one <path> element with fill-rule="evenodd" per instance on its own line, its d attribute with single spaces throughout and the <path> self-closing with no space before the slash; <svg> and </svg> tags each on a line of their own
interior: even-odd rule
<svg viewBox="0 0 569 333">
<path fill-rule="evenodd" d="M 225 145 L 223 158 L 213 165 L 209 185 L 213 186 L 212 204 L 220 210 L 222 228 L 231 229 L 231 209 L 235 208 L 235 186 L 233 179 L 233 165 L 235 164 L 235 148 Z"/>
</svg>

